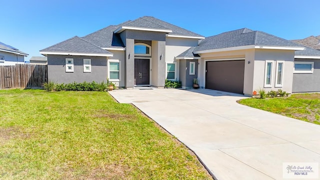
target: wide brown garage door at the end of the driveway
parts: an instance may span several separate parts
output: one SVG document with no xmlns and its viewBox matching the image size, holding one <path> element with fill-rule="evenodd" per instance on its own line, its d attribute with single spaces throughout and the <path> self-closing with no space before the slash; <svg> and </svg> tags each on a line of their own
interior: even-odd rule
<svg viewBox="0 0 320 180">
<path fill-rule="evenodd" d="M 243 94 L 244 60 L 207 61 L 205 88 Z"/>
</svg>

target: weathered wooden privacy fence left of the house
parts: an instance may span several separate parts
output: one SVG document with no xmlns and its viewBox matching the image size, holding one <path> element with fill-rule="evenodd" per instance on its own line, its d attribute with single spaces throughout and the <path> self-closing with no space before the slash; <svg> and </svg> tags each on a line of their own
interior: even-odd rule
<svg viewBox="0 0 320 180">
<path fill-rule="evenodd" d="M 47 81 L 47 65 L 0 65 L 0 89 L 41 87 Z"/>
</svg>

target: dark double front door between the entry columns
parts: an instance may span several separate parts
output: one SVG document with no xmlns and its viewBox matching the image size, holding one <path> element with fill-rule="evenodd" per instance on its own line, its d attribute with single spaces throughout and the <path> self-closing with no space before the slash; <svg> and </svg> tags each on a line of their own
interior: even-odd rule
<svg viewBox="0 0 320 180">
<path fill-rule="evenodd" d="M 150 84 L 150 59 L 134 59 L 134 84 Z"/>
</svg>

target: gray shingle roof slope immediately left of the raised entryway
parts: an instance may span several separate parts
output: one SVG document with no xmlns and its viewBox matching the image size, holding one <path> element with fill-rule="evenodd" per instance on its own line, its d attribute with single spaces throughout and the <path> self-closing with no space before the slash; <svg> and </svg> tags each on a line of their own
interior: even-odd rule
<svg viewBox="0 0 320 180">
<path fill-rule="evenodd" d="M 124 47 L 119 34 L 113 33 L 113 31 L 118 27 L 119 25 L 109 25 L 82 38 L 94 43 L 99 47 Z"/>
</svg>

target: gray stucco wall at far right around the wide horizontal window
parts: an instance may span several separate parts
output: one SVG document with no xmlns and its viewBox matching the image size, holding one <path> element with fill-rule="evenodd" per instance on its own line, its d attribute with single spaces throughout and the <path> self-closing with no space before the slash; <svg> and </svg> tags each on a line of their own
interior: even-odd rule
<svg viewBox="0 0 320 180">
<path fill-rule="evenodd" d="M 320 91 L 320 59 L 300 59 L 294 61 L 313 62 L 313 73 L 293 73 L 292 92 Z"/>
</svg>

